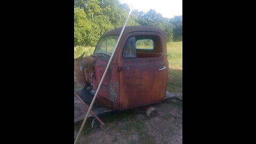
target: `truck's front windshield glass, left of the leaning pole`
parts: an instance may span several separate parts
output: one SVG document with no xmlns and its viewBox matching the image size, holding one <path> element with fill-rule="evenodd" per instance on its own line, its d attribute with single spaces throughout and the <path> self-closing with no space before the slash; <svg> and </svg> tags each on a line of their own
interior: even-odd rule
<svg viewBox="0 0 256 144">
<path fill-rule="evenodd" d="M 118 36 L 107 36 L 100 39 L 95 50 L 95 53 L 111 55 L 115 49 Z"/>
</svg>

